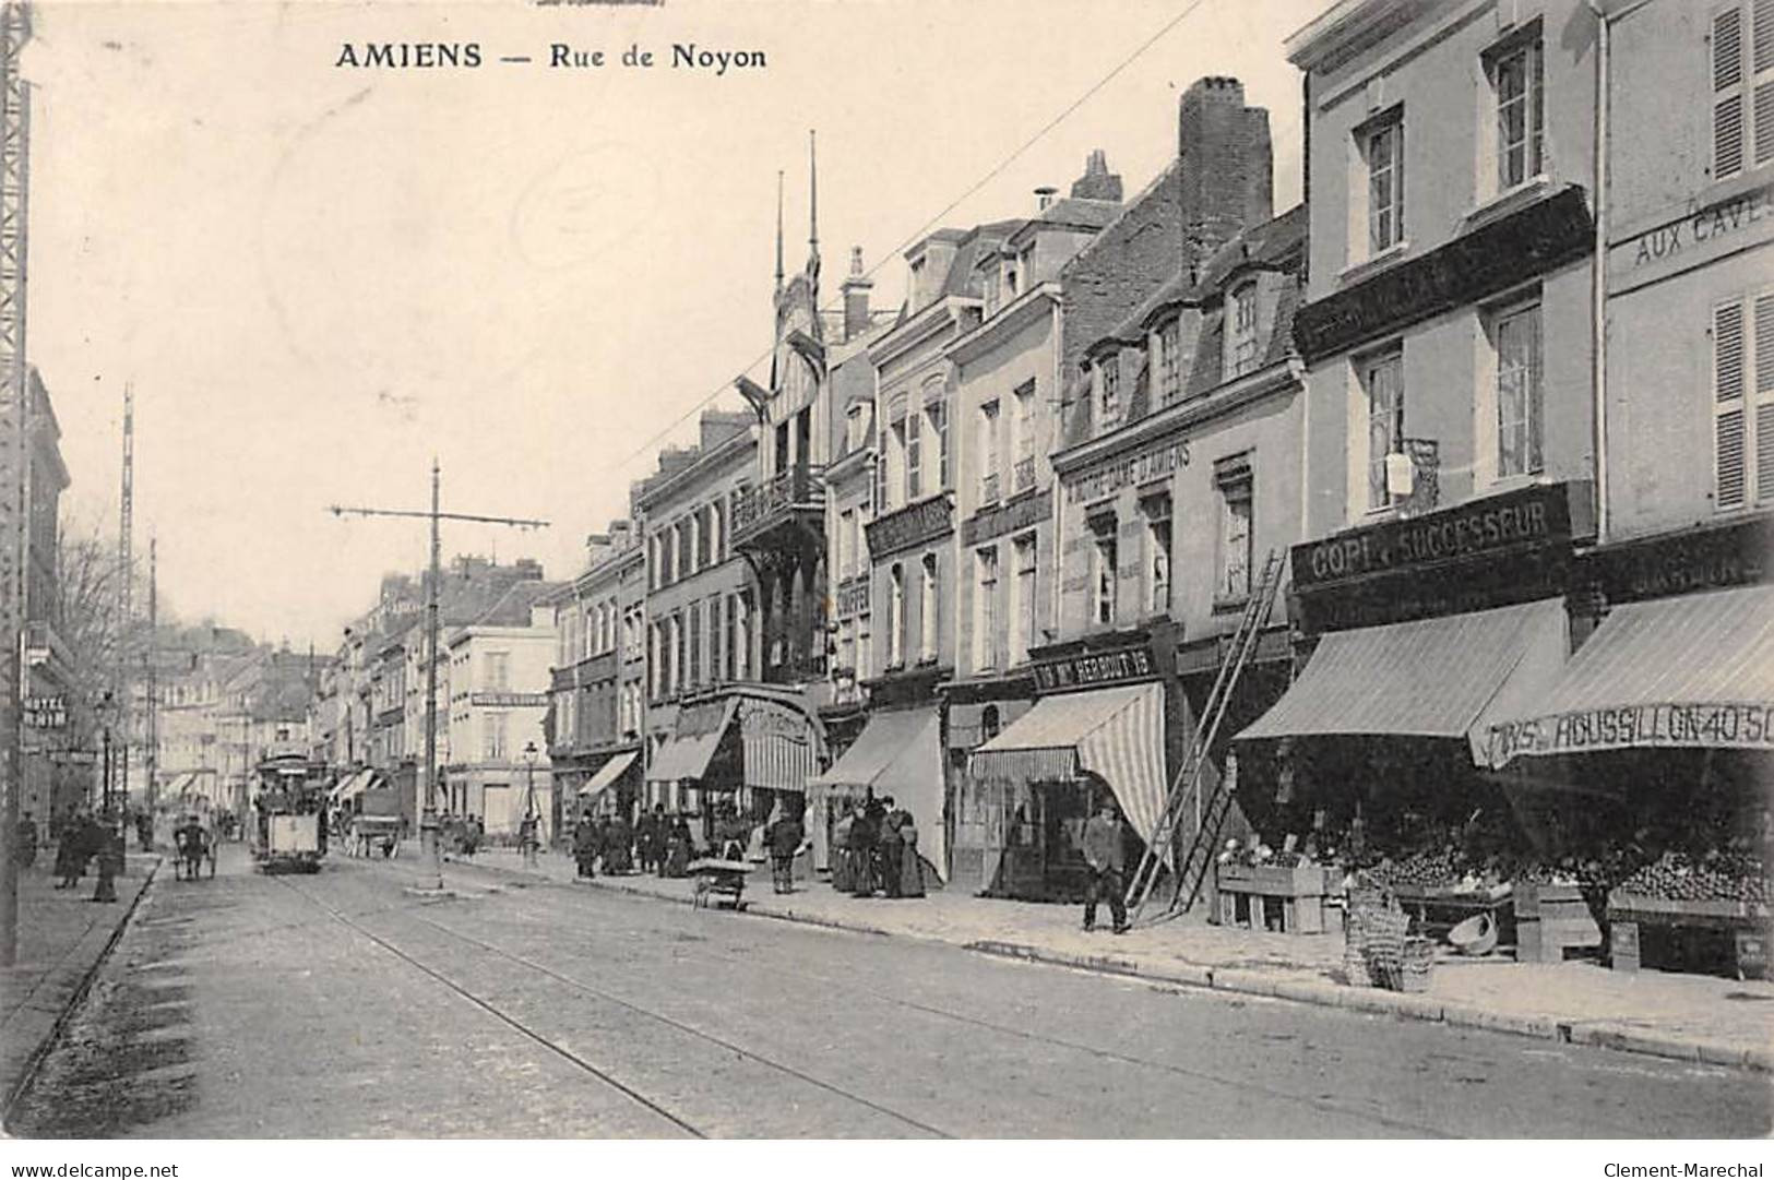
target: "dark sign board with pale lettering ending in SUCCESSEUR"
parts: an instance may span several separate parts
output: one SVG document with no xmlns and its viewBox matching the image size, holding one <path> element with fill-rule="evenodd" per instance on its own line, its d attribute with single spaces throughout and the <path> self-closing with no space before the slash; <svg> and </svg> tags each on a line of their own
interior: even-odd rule
<svg viewBox="0 0 1774 1180">
<path fill-rule="evenodd" d="M 1426 516 L 1391 520 L 1295 545 L 1293 586 L 1307 591 L 1377 573 L 1570 541 L 1572 486 L 1522 488 Z"/>
</svg>

